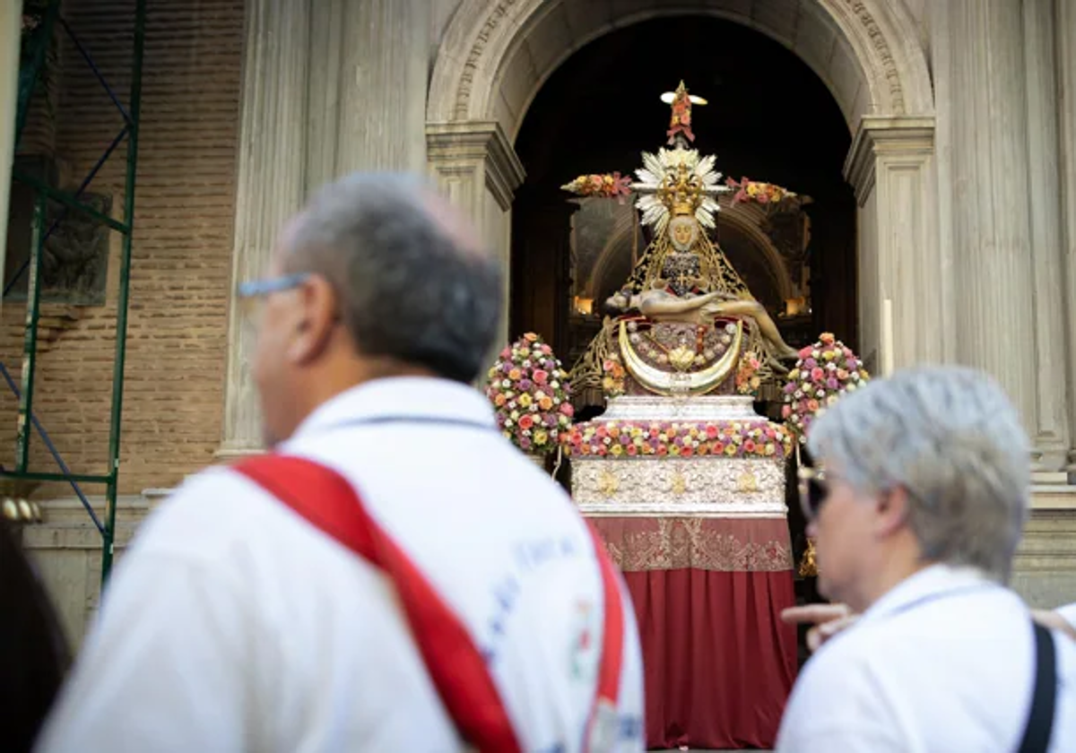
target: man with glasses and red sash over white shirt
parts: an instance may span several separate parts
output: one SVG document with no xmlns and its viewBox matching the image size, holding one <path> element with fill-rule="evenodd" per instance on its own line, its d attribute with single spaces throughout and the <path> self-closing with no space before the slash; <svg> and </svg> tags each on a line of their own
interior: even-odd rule
<svg viewBox="0 0 1076 753">
<path fill-rule="evenodd" d="M 359 173 L 266 272 L 237 295 L 272 452 L 139 531 L 40 750 L 642 751 L 627 592 L 470 385 L 497 255 L 425 182 Z"/>
</svg>

